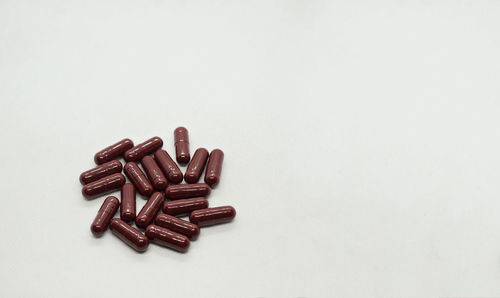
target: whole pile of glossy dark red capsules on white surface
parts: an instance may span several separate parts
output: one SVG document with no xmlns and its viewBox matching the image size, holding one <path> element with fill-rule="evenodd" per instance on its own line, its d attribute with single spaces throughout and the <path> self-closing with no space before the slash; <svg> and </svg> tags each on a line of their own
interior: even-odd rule
<svg viewBox="0 0 500 298">
<path fill-rule="evenodd" d="M 233 207 L 208 208 L 206 199 L 219 183 L 224 153 L 215 149 L 209 155 L 205 148 L 199 148 L 190 158 L 184 127 L 174 130 L 174 141 L 177 162 L 188 164 L 184 175 L 161 149 L 159 137 L 136 146 L 130 139 L 123 139 L 95 154 L 98 166 L 80 175 L 83 196 L 94 199 L 121 188 L 121 201 L 114 196 L 104 200 L 90 226 L 94 236 L 102 236 L 109 226 L 114 235 L 138 252 L 146 251 L 150 241 L 186 252 L 190 240 L 198 238 L 200 227 L 230 222 L 235 217 Z M 126 161 L 123 167 L 117 160 L 120 157 Z M 205 183 L 198 183 L 205 165 Z M 126 183 L 122 168 L 131 183 Z M 186 184 L 180 184 L 183 179 Z M 137 215 L 136 190 L 149 198 Z M 120 217 L 113 218 L 118 208 Z M 158 213 L 160 209 L 163 213 Z M 186 215 L 189 221 L 179 218 Z"/>
</svg>

